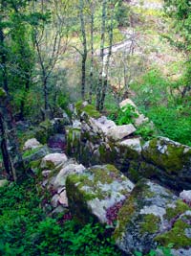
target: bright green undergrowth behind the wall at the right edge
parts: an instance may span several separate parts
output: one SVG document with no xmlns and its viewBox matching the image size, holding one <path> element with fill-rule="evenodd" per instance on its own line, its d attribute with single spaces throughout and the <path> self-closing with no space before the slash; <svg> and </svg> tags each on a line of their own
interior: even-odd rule
<svg viewBox="0 0 191 256">
<path fill-rule="evenodd" d="M 180 94 L 174 93 L 177 92 L 176 83 L 165 80 L 158 70 L 151 70 L 133 85 L 133 89 L 140 111 L 153 121 L 158 128 L 158 135 L 191 145 L 190 100 L 189 97 L 181 98 Z M 148 132 L 149 135 L 147 127 L 141 129 L 143 134 Z"/>
</svg>

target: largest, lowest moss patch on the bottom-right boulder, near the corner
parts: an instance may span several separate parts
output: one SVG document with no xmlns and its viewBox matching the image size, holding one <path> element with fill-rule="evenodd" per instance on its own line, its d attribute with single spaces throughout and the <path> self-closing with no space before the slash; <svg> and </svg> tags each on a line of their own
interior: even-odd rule
<svg viewBox="0 0 191 256">
<path fill-rule="evenodd" d="M 163 246 L 174 244 L 174 247 L 177 249 L 190 246 L 191 238 L 186 237 L 185 228 L 190 228 L 190 225 L 184 221 L 178 220 L 169 232 L 157 236 L 155 240 Z"/>
</svg>

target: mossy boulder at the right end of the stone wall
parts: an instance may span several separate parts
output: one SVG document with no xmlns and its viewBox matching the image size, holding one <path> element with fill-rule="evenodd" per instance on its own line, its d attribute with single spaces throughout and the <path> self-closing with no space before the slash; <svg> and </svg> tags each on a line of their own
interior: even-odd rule
<svg viewBox="0 0 191 256">
<path fill-rule="evenodd" d="M 168 138 L 155 138 L 143 146 L 142 155 L 160 169 L 158 178 L 176 189 L 191 189 L 191 148 Z"/>
</svg>

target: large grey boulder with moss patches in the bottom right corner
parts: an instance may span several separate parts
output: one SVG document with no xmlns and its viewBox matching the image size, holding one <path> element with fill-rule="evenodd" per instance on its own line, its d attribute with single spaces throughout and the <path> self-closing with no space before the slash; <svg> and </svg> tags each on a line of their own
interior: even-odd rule
<svg viewBox="0 0 191 256">
<path fill-rule="evenodd" d="M 191 244 L 190 210 L 169 190 L 142 179 L 119 210 L 114 234 L 117 245 L 130 255 L 168 244 L 177 251 L 187 250 Z"/>
</svg>

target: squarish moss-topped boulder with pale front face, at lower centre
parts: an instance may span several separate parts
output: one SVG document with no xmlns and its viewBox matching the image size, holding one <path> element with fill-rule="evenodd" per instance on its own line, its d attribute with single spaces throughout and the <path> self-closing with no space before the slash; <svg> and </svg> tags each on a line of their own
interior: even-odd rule
<svg viewBox="0 0 191 256">
<path fill-rule="evenodd" d="M 68 175 L 66 191 L 69 207 L 80 221 L 107 223 L 111 207 L 129 197 L 134 184 L 114 166 L 94 166 L 82 174 Z"/>
</svg>

